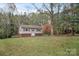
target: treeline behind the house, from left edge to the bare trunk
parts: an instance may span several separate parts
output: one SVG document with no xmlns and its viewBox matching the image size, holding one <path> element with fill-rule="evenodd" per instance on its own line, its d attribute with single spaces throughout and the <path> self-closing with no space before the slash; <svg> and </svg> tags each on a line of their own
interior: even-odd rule
<svg viewBox="0 0 79 59">
<path fill-rule="evenodd" d="M 15 4 L 7 6 L 9 12 L 5 12 L 5 10 L 0 12 L 0 39 L 16 36 L 20 25 L 41 25 L 47 23 L 49 19 L 46 12 L 29 13 L 28 15 L 26 12 L 23 15 L 14 14 L 16 7 L 14 8 L 13 5 L 15 6 Z"/>
</svg>

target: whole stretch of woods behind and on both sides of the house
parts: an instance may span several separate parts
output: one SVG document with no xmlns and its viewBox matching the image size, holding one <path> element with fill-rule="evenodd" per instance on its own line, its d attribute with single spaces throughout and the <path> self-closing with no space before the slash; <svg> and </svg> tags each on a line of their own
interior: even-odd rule
<svg viewBox="0 0 79 59">
<path fill-rule="evenodd" d="M 42 3 L 43 8 L 31 4 L 36 13 L 14 14 L 17 7 L 7 3 L 5 12 L 0 9 L 0 38 L 10 38 L 18 34 L 18 27 L 24 25 L 44 25 L 51 20 L 51 35 L 79 34 L 79 4 L 78 3 Z"/>
</svg>

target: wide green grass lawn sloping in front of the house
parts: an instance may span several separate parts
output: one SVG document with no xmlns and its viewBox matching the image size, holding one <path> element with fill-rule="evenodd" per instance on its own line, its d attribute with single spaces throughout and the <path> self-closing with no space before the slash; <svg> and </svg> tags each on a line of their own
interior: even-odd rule
<svg viewBox="0 0 79 59">
<path fill-rule="evenodd" d="M 0 55 L 79 55 L 78 36 L 42 36 L 0 40 Z"/>
</svg>

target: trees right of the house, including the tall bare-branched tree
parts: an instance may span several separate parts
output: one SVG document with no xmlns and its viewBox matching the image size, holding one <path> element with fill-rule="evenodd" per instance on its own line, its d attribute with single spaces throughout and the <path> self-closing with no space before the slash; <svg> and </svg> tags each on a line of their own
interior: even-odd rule
<svg viewBox="0 0 79 59">
<path fill-rule="evenodd" d="M 51 20 L 51 35 L 70 34 L 79 32 L 79 4 L 78 3 L 50 3 L 42 4 Z M 33 4 L 41 13 L 41 10 Z"/>
</svg>

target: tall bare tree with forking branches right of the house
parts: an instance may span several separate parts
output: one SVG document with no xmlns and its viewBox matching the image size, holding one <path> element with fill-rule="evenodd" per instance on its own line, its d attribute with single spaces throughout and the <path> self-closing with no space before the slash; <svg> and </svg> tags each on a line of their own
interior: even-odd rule
<svg viewBox="0 0 79 59">
<path fill-rule="evenodd" d="M 41 12 L 41 10 L 35 5 L 35 4 L 32 4 L 36 9 L 37 11 Z M 54 7 L 55 7 L 55 4 L 54 3 L 50 3 L 50 4 L 47 4 L 49 5 L 49 7 L 46 6 L 45 3 L 43 3 L 43 7 L 48 11 L 49 13 L 49 16 L 50 16 L 50 19 L 51 19 L 51 35 L 53 35 L 53 32 L 54 32 L 54 19 L 53 19 L 53 16 L 54 16 Z"/>
</svg>

